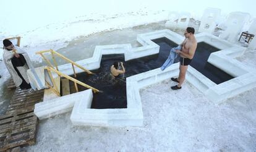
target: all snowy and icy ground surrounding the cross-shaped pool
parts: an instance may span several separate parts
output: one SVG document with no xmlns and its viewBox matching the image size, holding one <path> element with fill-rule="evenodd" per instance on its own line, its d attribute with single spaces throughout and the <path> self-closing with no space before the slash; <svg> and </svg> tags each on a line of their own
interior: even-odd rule
<svg viewBox="0 0 256 152">
<path fill-rule="evenodd" d="M 21 46 L 36 66 L 44 64 L 35 55 L 43 49 L 55 49 L 79 61 L 92 56 L 96 45 L 138 46 L 137 34 L 165 28 L 162 21 L 167 19 L 168 11 L 188 11 L 194 19 L 200 19 L 206 7 L 218 7 L 223 18 L 232 11 L 249 12 L 255 17 L 254 3 L 252 0 L 2 1 L 0 39 L 22 36 Z M 255 58 L 255 50 L 247 50 L 237 59 L 256 68 Z M 0 68 L 3 114 L 12 92 L 6 89 L 9 74 L 2 62 Z M 166 80 L 140 91 L 143 127 L 73 127 L 67 113 L 40 121 L 36 144 L 25 150 L 256 151 L 256 89 L 223 104 L 213 104 L 189 83 L 184 83 L 179 91 L 169 88 L 174 84 Z"/>
</svg>

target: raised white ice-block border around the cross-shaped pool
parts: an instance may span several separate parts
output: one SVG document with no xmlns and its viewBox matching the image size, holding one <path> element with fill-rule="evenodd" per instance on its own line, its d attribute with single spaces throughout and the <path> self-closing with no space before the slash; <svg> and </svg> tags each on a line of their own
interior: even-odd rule
<svg viewBox="0 0 256 152">
<path fill-rule="evenodd" d="M 142 44 L 139 48 L 131 48 L 130 44 L 96 46 L 93 57 L 77 61 L 77 63 L 92 70 L 100 67 L 101 56 L 103 54 L 124 54 L 126 61 L 156 54 L 159 53 L 160 47 L 151 40 L 161 37 L 166 37 L 177 44 L 180 44 L 184 39 L 181 35 L 170 30 L 145 33 L 137 36 L 137 41 Z M 250 90 L 256 86 L 255 70 L 246 67 L 234 59 L 234 57 L 241 56 L 245 48 L 231 44 L 225 40 L 220 40 L 220 38 L 208 33 L 199 33 L 196 35 L 196 38 L 198 43 L 204 41 L 221 49 L 221 51 L 211 53 L 208 62 L 236 78 L 216 85 L 216 83 L 211 82 L 207 77 L 189 66 L 187 72 L 187 81 L 189 83 L 192 83 L 192 85 L 202 91 L 215 103 L 220 103 L 223 99 Z M 65 74 L 72 74 L 72 69 L 68 64 L 61 65 L 59 70 Z M 79 69 L 76 70 L 82 72 Z M 141 126 L 143 125 L 143 112 L 139 89 L 177 76 L 178 72 L 179 63 L 176 63 L 164 71 L 158 68 L 126 78 L 127 108 L 124 109 L 90 109 L 92 91 L 85 90 L 53 99 L 52 101 L 44 101 L 43 103 L 36 104 L 35 114 L 40 119 L 44 119 L 54 114 L 66 112 L 74 106 L 70 116 L 70 120 L 74 125 Z M 77 101 L 74 102 L 75 99 Z M 63 104 L 67 103 L 69 106 L 63 106 Z M 47 110 L 48 108 L 51 110 Z"/>
</svg>

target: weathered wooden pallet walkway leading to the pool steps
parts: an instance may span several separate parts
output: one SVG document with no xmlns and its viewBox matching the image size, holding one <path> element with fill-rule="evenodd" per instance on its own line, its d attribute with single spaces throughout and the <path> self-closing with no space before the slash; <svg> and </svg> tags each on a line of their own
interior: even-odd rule
<svg viewBox="0 0 256 152">
<path fill-rule="evenodd" d="M 15 90 L 6 114 L 0 116 L 0 151 L 35 144 L 38 119 L 33 110 L 44 90 Z"/>
</svg>

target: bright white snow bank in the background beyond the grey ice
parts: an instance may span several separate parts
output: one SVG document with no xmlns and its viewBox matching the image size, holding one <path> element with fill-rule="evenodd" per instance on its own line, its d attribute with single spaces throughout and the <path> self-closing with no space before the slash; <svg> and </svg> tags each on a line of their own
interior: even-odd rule
<svg viewBox="0 0 256 152">
<path fill-rule="evenodd" d="M 36 51 L 64 48 L 79 36 L 160 22 L 168 19 L 169 11 L 187 11 L 200 19 L 204 9 L 217 7 L 221 9 L 219 22 L 233 11 L 249 12 L 255 17 L 254 5 L 247 4 L 254 1 L 2 1 L 1 6 L 8 7 L 3 7 L 0 14 L 0 40 L 22 36 L 22 48 L 32 61 L 41 62 Z"/>
</svg>

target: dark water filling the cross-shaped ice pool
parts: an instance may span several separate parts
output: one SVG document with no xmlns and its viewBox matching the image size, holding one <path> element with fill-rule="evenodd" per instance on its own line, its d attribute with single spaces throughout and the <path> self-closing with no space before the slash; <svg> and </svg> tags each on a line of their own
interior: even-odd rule
<svg viewBox="0 0 256 152">
<path fill-rule="evenodd" d="M 159 54 L 141 57 L 127 62 L 124 62 L 124 54 L 104 55 L 101 59 L 100 69 L 92 71 L 95 75 L 87 75 L 85 73 L 77 74 L 77 80 L 103 91 L 103 93 L 95 93 L 93 95 L 91 108 L 127 108 L 126 77 L 161 67 L 169 56 L 169 50 L 177 46 L 176 43 L 169 41 L 167 38 L 160 38 L 153 41 L 160 46 Z M 215 51 L 218 51 L 218 49 L 207 43 L 198 43 L 197 51 L 191 65 L 203 75 L 210 78 L 210 80 L 218 84 L 233 77 L 207 63 L 210 53 Z M 114 61 L 124 62 L 126 74 L 123 79 L 113 79 L 109 74 L 110 67 L 113 65 Z M 179 59 L 176 59 L 174 62 L 178 61 Z M 79 91 L 87 89 L 80 85 L 78 85 L 78 87 Z M 70 82 L 70 93 L 75 93 L 73 82 Z"/>
</svg>

